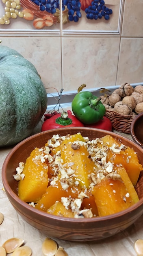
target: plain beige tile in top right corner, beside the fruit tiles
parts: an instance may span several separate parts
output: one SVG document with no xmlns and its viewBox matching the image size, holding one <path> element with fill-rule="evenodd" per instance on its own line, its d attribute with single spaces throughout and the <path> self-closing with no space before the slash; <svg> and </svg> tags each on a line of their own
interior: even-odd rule
<svg viewBox="0 0 143 256">
<path fill-rule="evenodd" d="M 125 0 L 122 36 L 143 36 L 143 0 Z"/>
</svg>

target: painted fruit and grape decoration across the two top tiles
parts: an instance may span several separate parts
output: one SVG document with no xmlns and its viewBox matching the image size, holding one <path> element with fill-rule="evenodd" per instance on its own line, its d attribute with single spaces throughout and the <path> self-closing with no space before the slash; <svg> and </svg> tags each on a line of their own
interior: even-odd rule
<svg viewBox="0 0 143 256">
<path fill-rule="evenodd" d="M 75 30 L 85 31 L 90 30 L 90 27 L 93 30 L 95 24 L 96 26 L 99 24 L 99 30 L 104 30 L 100 28 L 100 23 L 102 27 L 107 28 L 108 24 L 108 27 L 111 27 L 109 20 L 115 22 L 115 15 L 116 19 L 119 19 L 122 0 L 62 0 L 62 2 L 60 0 L 0 0 L 0 2 L 4 11 L 3 15 L 1 15 L 2 10 L 0 11 L 0 28 L 2 25 L 10 25 L 11 22 L 18 22 L 21 19 L 31 23 L 36 30 L 51 27 L 53 29 L 56 24 L 60 24 L 60 21 L 62 29 L 69 29 L 70 25 L 81 22 L 82 27 L 76 25 Z M 115 9 L 115 15 L 113 9 Z M 64 27 L 64 25 L 67 26 Z"/>
</svg>

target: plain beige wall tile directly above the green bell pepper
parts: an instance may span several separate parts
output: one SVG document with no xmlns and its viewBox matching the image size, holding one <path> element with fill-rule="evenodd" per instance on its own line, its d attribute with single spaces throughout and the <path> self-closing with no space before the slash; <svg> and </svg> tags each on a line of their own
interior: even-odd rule
<svg viewBox="0 0 143 256">
<path fill-rule="evenodd" d="M 115 85 L 119 38 L 62 38 L 63 88 Z"/>
</svg>

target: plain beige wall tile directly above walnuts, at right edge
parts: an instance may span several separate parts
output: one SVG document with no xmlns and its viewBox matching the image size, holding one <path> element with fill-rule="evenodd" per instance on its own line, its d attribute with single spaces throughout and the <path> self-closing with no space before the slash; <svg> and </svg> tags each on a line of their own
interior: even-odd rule
<svg viewBox="0 0 143 256">
<path fill-rule="evenodd" d="M 143 82 L 143 38 L 121 38 L 117 84 Z"/>
</svg>

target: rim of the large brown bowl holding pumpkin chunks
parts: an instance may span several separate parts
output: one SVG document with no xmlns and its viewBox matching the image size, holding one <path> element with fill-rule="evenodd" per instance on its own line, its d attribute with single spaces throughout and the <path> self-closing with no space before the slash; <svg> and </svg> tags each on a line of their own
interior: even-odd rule
<svg viewBox="0 0 143 256">
<path fill-rule="evenodd" d="M 74 130 L 75 128 L 80 129 L 80 127 L 67 127 L 66 130 Z M 95 131 L 99 131 L 101 130 L 102 132 L 105 130 L 102 129 L 97 129 L 97 128 L 88 128 L 88 127 L 81 127 L 83 130 L 95 130 Z M 64 221 L 64 222 L 101 222 L 103 220 L 107 221 L 107 220 L 111 220 L 113 218 L 121 218 L 121 216 L 126 215 L 127 213 L 131 213 L 132 211 L 134 211 L 135 209 L 137 209 L 138 207 L 140 207 L 143 204 L 143 198 L 141 198 L 139 200 L 139 202 L 133 204 L 132 206 L 130 206 L 129 208 L 123 210 L 123 211 L 119 211 L 118 213 L 114 213 L 114 214 L 110 214 L 107 216 L 97 216 L 97 217 L 92 217 L 92 218 L 67 218 L 67 217 L 62 217 L 62 216 L 56 216 L 56 215 L 52 215 L 50 213 L 46 213 L 44 211 L 40 211 L 39 209 L 35 209 L 34 207 L 30 206 L 28 203 L 22 201 L 18 195 L 15 194 L 15 192 L 11 189 L 11 187 L 9 186 L 9 183 L 6 179 L 6 166 L 8 164 L 8 159 L 13 155 L 13 153 L 17 150 L 17 148 L 19 148 L 19 146 L 21 146 L 22 144 L 25 144 L 26 141 L 32 139 L 33 137 L 38 137 L 39 135 L 42 135 L 44 133 L 48 133 L 49 131 L 51 132 L 56 132 L 56 134 L 59 134 L 59 132 L 63 130 L 63 128 L 59 128 L 57 129 L 52 129 L 52 130 L 47 130 L 47 131 L 43 131 L 43 132 L 38 132 L 34 135 L 31 135 L 29 137 L 27 137 L 26 139 L 20 141 L 17 145 L 15 145 L 10 152 L 8 153 L 8 155 L 6 156 L 6 158 L 4 159 L 4 163 L 2 165 L 2 183 L 4 186 L 4 190 L 6 192 L 6 194 L 9 194 L 9 197 L 14 198 L 14 200 L 21 205 L 22 208 L 26 208 L 28 211 L 31 211 L 32 213 L 38 214 L 39 216 L 43 217 L 48 217 L 50 219 L 53 220 L 58 220 L 58 221 Z M 58 131 L 58 132 L 57 132 Z M 132 144 L 134 144 L 135 147 L 137 147 L 139 150 L 141 150 L 143 152 L 143 148 L 141 148 L 141 146 L 139 146 L 138 144 L 136 144 L 134 141 L 132 141 L 131 139 L 126 138 L 123 135 L 119 135 L 116 134 L 115 132 L 109 132 L 108 131 L 108 135 L 117 135 L 117 137 L 119 138 L 123 138 L 126 139 L 127 143 L 128 141 L 132 142 Z M 12 203 L 11 203 L 12 204 Z"/>
</svg>

